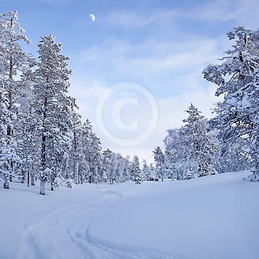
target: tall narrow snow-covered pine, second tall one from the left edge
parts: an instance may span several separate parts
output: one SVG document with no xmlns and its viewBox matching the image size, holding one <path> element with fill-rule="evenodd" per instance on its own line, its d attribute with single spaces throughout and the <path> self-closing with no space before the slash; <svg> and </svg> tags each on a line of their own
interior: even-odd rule
<svg viewBox="0 0 259 259">
<path fill-rule="evenodd" d="M 61 54 L 61 43 L 43 36 L 38 44 L 39 60 L 35 71 L 34 107 L 38 114 L 38 132 L 41 136 L 40 194 L 45 194 L 45 184 L 51 190 L 58 185 L 56 178 L 62 169 L 65 148 L 72 144 L 72 98 L 67 95 L 69 58 Z"/>
</svg>

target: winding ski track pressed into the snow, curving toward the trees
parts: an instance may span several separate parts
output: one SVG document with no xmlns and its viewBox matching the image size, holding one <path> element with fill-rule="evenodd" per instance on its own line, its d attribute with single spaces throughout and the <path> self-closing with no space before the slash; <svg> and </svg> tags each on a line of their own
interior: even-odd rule
<svg viewBox="0 0 259 259">
<path fill-rule="evenodd" d="M 110 189 L 94 202 L 55 207 L 29 217 L 20 229 L 19 259 L 186 259 L 163 251 L 132 247 L 102 240 L 89 234 L 91 224 L 105 209 L 115 206 L 127 195 Z"/>
</svg>

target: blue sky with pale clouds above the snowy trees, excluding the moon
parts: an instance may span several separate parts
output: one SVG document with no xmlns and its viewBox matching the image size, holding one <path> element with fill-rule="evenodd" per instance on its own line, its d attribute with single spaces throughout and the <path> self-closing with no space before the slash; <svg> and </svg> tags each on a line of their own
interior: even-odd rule
<svg viewBox="0 0 259 259">
<path fill-rule="evenodd" d="M 62 42 L 73 70 L 69 94 L 103 149 L 152 161 L 166 129 L 193 103 L 207 118 L 216 86 L 202 70 L 231 48 L 233 27 L 259 27 L 257 0 L 12 0 L 37 58 L 40 36 Z M 91 21 L 89 13 L 96 16 Z"/>
</svg>

